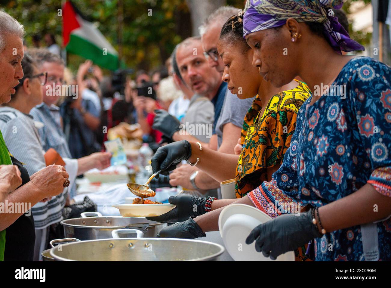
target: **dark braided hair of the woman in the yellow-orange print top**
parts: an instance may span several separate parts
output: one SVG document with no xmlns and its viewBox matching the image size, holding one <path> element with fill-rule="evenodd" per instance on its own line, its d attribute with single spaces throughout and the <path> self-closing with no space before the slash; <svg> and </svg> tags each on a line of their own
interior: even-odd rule
<svg viewBox="0 0 391 288">
<path fill-rule="evenodd" d="M 243 37 L 243 15 L 233 15 L 224 23 L 220 32 L 220 39 L 231 40 L 235 44 L 240 43 L 243 51 L 250 49 Z"/>
</svg>

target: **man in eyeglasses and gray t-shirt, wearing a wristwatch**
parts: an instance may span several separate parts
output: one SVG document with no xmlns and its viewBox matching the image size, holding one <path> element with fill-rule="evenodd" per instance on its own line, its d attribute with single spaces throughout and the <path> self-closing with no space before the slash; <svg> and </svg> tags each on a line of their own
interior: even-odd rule
<svg viewBox="0 0 391 288">
<path fill-rule="evenodd" d="M 204 56 L 208 60 L 209 66 L 214 67 L 221 76 L 224 72 L 224 63 L 217 52 L 220 31 L 228 18 L 237 13 L 239 13 L 239 9 L 235 7 L 220 7 L 210 14 L 199 27 Z M 217 136 L 215 137 L 217 145 L 214 149 L 217 149 L 217 151 L 221 153 L 234 154 L 234 147 L 237 144 L 242 131 L 244 116 L 251 107 L 252 102 L 253 98 L 240 100 L 236 95 L 232 95 L 226 88 L 222 91 L 221 95 L 215 97 L 213 104 L 215 104 L 215 111 L 217 110 L 219 112 L 214 127 L 215 136 Z M 211 139 L 209 147 L 213 149 L 212 142 Z M 203 171 L 190 165 L 182 165 L 171 173 L 170 184 L 197 190 L 220 187 L 219 182 Z"/>
</svg>

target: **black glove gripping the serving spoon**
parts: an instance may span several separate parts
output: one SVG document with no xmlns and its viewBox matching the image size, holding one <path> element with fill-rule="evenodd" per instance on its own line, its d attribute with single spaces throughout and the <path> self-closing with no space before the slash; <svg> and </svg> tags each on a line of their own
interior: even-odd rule
<svg viewBox="0 0 391 288">
<path fill-rule="evenodd" d="M 151 160 L 152 170 L 155 173 L 162 170 L 160 174 L 169 175 L 169 171 L 176 168 L 182 160 L 187 160 L 192 155 L 192 146 L 187 140 L 172 142 L 160 147 Z"/>
</svg>

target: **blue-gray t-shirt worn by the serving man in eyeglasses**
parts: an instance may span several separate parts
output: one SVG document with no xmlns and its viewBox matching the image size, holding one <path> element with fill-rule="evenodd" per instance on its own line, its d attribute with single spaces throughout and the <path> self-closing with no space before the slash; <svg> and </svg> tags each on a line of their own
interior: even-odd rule
<svg viewBox="0 0 391 288">
<path fill-rule="evenodd" d="M 255 97 L 255 96 L 254 96 Z M 217 148 L 222 143 L 222 129 L 225 124 L 232 123 L 233 125 L 242 128 L 244 116 L 253 104 L 254 97 L 247 99 L 239 99 L 227 89 L 224 104 L 221 109 L 220 117 L 217 120 L 215 131 L 217 134 Z"/>
</svg>

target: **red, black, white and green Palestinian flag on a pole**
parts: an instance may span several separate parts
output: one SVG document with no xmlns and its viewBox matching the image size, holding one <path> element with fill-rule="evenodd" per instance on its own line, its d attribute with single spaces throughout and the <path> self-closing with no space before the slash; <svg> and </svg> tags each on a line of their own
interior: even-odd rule
<svg viewBox="0 0 391 288">
<path fill-rule="evenodd" d="M 63 47 L 109 70 L 120 67 L 118 53 L 70 1 L 63 5 Z"/>
</svg>

